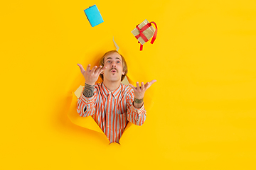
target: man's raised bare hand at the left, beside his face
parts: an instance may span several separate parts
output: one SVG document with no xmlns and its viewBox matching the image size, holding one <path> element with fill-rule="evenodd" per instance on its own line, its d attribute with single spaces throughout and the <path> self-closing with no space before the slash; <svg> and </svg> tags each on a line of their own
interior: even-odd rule
<svg viewBox="0 0 256 170">
<path fill-rule="evenodd" d="M 97 79 L 99 78 L 99 75 L 104 72 L 105 69 L 107 69 L 107 67 L 93 67 L 92 70 L 90 70 L 90 64 L 87 65 L 86 70 L 82 67 L 81 64 L 78 64 L 78 66 L 80 67 L 80 71 L 83 75 L 83 77 L 85 77 L 85 83 L 89 84 L 89 85 L 95 85 L 95 82 L 97 81 Z"/>
</svg>

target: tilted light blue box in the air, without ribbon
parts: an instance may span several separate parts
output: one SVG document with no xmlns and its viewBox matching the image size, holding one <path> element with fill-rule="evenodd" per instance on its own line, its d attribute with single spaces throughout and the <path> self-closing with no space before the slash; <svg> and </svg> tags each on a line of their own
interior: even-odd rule
<svg viewBox="0 0 256 170">
<path fill-rule="evenodd" d="M 92 27 L 103 23 L 102 16 L 100 15 L 100 11 L 98 10 L 97 6 L 90 6 L 89 8 L 85 9 L 85 15 L 90 22 Z"/>
</svg>

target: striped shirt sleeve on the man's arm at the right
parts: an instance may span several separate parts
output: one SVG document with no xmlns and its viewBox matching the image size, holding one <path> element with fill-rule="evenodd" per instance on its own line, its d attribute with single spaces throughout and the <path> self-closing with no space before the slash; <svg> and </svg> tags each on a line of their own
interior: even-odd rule
<svg viewBox="0 0 256 170">
<path fill-rule="evenodd" d="M 135 108 L 134 102 L 134 92 L 130 91 L 127 95 L 127 119 L 134 125 L 143 125 L 146 120 L 146 110 L 144 108 L 144 103 L 141 108 Z"/>
</svg>

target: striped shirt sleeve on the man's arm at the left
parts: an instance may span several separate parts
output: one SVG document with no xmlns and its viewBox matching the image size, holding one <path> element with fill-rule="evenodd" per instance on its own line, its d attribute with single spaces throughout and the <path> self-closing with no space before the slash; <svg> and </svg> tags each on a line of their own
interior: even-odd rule
<svg viewBox="0 0 256 170">
<path fill-rule="evenodd" d="M 87 98 L 83 94 L 81 94 L 81 96 L 78 98 L 78 106 L 77 106 L 77 111 L 81 117 L 87 117 L 95 113 L 96 98 L 97 98 L 96 88 L 93 96 L 90 98 Z"/>
</svg>

